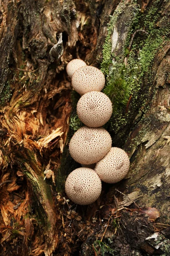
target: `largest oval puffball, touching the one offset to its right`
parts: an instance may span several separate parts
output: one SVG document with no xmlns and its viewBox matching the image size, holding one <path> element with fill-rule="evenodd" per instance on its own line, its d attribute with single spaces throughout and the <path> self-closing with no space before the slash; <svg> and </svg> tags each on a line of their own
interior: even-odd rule
<svg viewBox="0 0 170 256">
<path fill-rule="evenodd" d="M 101 160 L 111 149 L 111 136 L 104 128 L 79 128 L 69 144 L 71 157 L 81 164 Z"/>
</svg>

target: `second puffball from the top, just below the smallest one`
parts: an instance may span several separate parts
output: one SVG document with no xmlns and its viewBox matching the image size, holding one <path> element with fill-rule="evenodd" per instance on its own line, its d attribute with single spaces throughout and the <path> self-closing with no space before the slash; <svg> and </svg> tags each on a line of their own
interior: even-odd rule
<svg viewBox="0 0 170 256">
<path fill-rule="evenodd" d="M 72 76 L 71 84 L 80 95 L 91 91 L 100 92 L 105 86 L 105 76 L 96 67 L 80 67 Z"/>
</svg>

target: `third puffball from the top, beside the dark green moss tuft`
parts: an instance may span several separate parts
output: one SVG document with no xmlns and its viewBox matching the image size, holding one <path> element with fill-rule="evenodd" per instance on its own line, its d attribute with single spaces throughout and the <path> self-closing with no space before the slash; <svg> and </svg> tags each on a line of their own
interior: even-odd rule
<svg viewBox="0 0 170 256">
<path fill-rule="evenodd" d="M 77 115 L 89 127 L 104 125 L 111 118 L 111 114 L 111 100 L 101 92 L 85 93 L 77 103 Z"/>
</svg>

